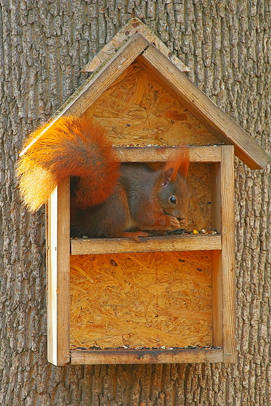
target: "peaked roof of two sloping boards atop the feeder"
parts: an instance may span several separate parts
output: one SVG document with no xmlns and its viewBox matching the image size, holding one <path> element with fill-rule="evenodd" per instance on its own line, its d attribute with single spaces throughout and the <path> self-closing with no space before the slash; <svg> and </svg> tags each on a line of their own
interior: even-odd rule
<svg viewBox="0 0 271 406">
<path fill-rule="evenodd" d="M 235 154 L 247 166 L 251 169 L 261 169 L 271 162 L 271 157 L 250 135 L 191 82 L 156 44 L 151 44 L 139 33 L 122 42 L 114 55 L 73 93 L 54 114 L 43 133 L 64 114 L 82 115 L 135 59 L 219 140 L 234 145 Z M 22 156 L 41 135 L 42 133 L 20 155 Z"/>
</svg>

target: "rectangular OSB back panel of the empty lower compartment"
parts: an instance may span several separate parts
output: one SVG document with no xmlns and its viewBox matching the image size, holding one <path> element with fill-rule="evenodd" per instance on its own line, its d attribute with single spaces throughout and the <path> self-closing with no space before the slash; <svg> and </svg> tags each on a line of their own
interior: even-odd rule
<svg viewBox="0 0 271 406">
<path fill-rule="evenodd" d="M 71 256 L 71 348 L 211 345 L 210 256 Z"/>
</svg>

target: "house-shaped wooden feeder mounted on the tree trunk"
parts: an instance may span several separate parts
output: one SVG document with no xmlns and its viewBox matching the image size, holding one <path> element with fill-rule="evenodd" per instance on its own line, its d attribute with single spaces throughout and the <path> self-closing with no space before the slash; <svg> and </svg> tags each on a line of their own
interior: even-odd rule
<svg viewBox="0 0 271 406">
<path fill-rule="evenodd" d="M 64 179 L 47 206 L 48 360 L 55 365 L 236 362 L 234 154 L 251 169 L 271 158 L 186 70 L 132 19 L 83 69 L 93 74 L 51 121 L 93 116 L 122 162 L 159 165 L 174 146 L 190 145 L 188 230 L 217 232 L 140 244 L 70 239 Z"/>
</svg>

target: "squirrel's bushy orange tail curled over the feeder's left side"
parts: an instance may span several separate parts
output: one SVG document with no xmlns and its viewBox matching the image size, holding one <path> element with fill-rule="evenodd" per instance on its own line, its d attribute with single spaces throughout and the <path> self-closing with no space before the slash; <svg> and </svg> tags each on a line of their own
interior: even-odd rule
<svg viewBox="0 0 271 406">
<path fill-rule="evenodd" d="M 104 130 L 89 118 L 64 116 L 30 134 L 18 163 L 24 204 L 36 212 L 65 176 L 79 176 L 74 204 L 81 209 L 104 201 L 119 177 L 118 162 Z M 44 132 L 44 133 L 43 133 Z M 42 135 L 40 135 L 42 134 Z"/>
</svg>

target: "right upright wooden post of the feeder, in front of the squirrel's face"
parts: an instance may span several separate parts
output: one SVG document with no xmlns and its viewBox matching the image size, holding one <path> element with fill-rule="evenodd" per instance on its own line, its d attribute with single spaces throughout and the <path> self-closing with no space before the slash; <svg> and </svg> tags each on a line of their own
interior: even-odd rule
<svg viewBox="0 0 271 406">
<path fill-rule="evenodd" d="M 236 362 L 234 149 L 221 148 L 221 164 L 213 164 L 212 227 L 222 237 L 213 251 L 213 344 L 223 347 L 224 362 Z"/>
</svg>

